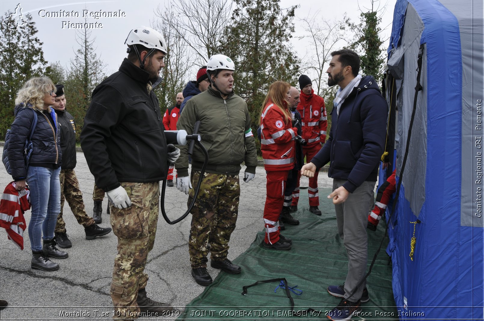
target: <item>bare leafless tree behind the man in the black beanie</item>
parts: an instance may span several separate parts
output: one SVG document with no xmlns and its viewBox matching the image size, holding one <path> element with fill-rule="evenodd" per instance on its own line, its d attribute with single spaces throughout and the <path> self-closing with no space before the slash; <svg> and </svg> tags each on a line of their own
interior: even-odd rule
<svg viewBox="0 0 484 321">
<path fill-rule="evenodd" d="M 321 20 L 318 11 L 300 19 L 304 25 L 305 36 L 300 39 L 309 40 L 307 53 L 302 59 L 301 72 L 316 73 L 317 94 L 324 96 L 328 90 L 326 69 L 331 61 L 331 52 L 348 44 L 349 18 L 346 15 L 340 21 Z"/>
</svg>

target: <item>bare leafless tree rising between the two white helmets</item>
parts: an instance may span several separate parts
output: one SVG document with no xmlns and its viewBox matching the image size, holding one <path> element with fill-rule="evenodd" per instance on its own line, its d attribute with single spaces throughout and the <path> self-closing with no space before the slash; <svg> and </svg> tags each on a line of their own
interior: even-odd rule
<svg viewBox="0 0 484 321">
<path fill-rule="evenodd" d="M 165 10 L 158 6 L 155 16 L 190 48 L 191 60 L 201 66 L 217 53 L 231 13 L 230 0 L 171 0 Z"/>
</svg>

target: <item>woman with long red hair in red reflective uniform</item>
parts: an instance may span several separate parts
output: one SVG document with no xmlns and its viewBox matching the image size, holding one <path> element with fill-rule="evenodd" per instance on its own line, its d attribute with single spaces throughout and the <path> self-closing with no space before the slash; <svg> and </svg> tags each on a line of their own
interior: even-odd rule
<svg viewBox="0 0 484 321">
<path fill-rule="evenodd" d="M 279 216 L 284 203 L 287 175 L 294 167 L 294 136 L 297 134 L 297 129 L 292 126 L 292 114 L 287 102 L 289 88 L 290 85 L 283 81 L 269 86 L 260 114 L 261 150 L 267 173 L 264 246 L 278 250 L 290 249 L 292 243 L 279 233 Z"/>
</svg>

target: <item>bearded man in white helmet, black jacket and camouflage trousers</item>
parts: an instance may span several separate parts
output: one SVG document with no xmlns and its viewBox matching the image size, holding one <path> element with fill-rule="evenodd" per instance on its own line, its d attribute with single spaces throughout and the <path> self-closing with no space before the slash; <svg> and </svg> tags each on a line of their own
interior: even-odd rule
<svg viewBox="0 0 484 321">
<path fill-rule="evenodd" d="M 156 234 L 159 181 L 166 179 L 168 162 L 175 162 L 180 150 L 166 145 L 153 92 L 163 80 L 165 38 L 141 26 L 124 43 L 128 58 L 92 92 L 81 146 L 96 185 L 107 192 L 118 237 L 110 288 L 113 319 L 136 319 L 173 309 L 147 297 L 144 269 Z"/>
</svg>

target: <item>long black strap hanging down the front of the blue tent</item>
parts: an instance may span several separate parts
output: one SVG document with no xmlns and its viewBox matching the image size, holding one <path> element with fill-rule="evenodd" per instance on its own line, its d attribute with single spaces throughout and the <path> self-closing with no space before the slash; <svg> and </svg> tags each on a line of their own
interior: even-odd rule
<svg viewBox="0 0 484 321">
<path fill-rule="evenodd" d="M 419 95 L 419 91 L 422 90 L 422 85 L 420 84 L 420 76 L 422 74 L 422 58 L 423 58 L 423 44 L 421 44 L 420 48 L 419 48 L 419 56 L 418 56 L 418 60 L 417 60 L 417 85 L 415 86 L 415 95 L 413 97 L 413 110 L 412 110 L 412 115 L 410 117 L 410 124 L 408 125 L 407 145 L 405 146 L 405 153 L 404 153 L 403 161 L 402 161 L 402 169 L 400 170 L 400 176 L 399 176 L 400 179 L 398 180 L 398 184 L 396 186 L 396 192 L 395 192 L 395 198 L 394 198 L 393 205 L 392 205 L 392 211 L 390 212 L 390 217 L 388 218 L 390 221 L 392 219 L 393 214 L 395 213 L 395 207 L 396 207 L 396 204 L 398 203 L 398 196 L 400 195 L 400 186 L 402 185 L 403 172 L 405 170 L 405 164 L 407 163 L 407 158 L 408 158 L 408 147 L 410 146 L 410 136 L 411 136 L 411 133 L 412 133 L 413 120 L 415 119 L 415 111 L 417 110 L 417 98 L 418 98 L 418 95 Z M 400 124 L 399 124 L 399 126 L 400 126 Z M 420 223 L 419 220 L 417 220 L 417 222 Z M 380 252 L 380 249 L 383 245 L 383 241 L 385 240 L 387 235 L 388 235 L 388 224 L 387 224 L 387 227 L 385 229 L 385 234 L 383 235 L 383 238 L 381 239 L 380 246 L 378 247 L 377 252 L 373 256 L 373 260 L 371 261 L 370 268 L 368 269 L 368 273 L 366 273 L 366 275 L 363 277 L 363 279 L 358 283 L 355 290 L 353 290 L 353 292 L 349 296 L 348 300 L 356 293 L 356 290 L 360 286 L 362 286 L 364 280 L 366 280 L 366 278 L 370 275 L 371 270 L 373 268 L 373 265 L 375 264 L 375 261 L 377 260 L 378 253 Z"/>
</svg>

